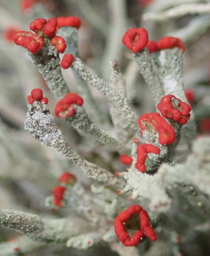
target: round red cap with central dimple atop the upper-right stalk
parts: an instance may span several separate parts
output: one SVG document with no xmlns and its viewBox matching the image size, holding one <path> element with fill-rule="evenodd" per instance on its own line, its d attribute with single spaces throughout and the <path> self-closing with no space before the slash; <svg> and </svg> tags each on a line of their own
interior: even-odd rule
<svg viewBox="0 0 210 256">
<path fill-rule="evenodd" d="M 123 44 L 133 53 L 141 51 L 148 44 L 148 33 L 144 28 L 130 28 L 123 36 Z"/>
</svg>

